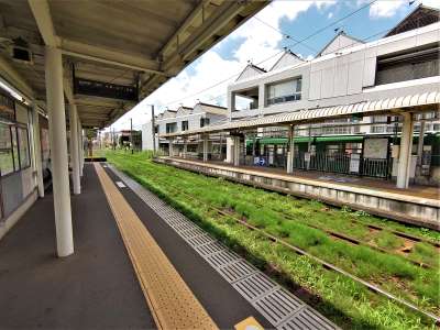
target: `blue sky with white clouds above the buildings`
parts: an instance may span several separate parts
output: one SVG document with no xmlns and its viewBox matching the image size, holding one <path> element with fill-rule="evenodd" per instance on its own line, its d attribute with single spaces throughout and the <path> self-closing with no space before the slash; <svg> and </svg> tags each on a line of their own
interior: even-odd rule
<svg viewBox="0 0 440 330">
<path fill-rule="evenodd" d="M 279 56 L 274 54 L 279 54 L 283 46 L 295 44 L 295 41 L 286 38 L 283 34 L 302 40 L 370 2 L 370 0 L 274 1 L 260 11 L 256 19 L 251 18 L 177 77 L 123 116 L 116 123 L 116 128 L 117 130 L 127 128 L 130 118 L 133 118 L 139 129 L 150 119 L 148 103 L 156 105 L 158 109 L 156 113 L 166 108 L 176 109 L 179 105 L 193 107 L 198 100 L 226 106 L 227 86 L 233 82 L 248 61 L 257 64 L 270 57 L 270 61 L 262 64 L 263 67 L 270 68 Z M 409 4 L 408 0 L 378 0 L 290 50 L 310 59 L 336 35 L 334 29 L 343 30 L 361 40 L 377 34 L 365 41 L 377 40 L 420 2 L 415 1 Z M 440 6 L 440 1 L 436 0 L 422 2 L 431 7 Z M 207 90 L 208 87 L 222 80 L 224 82 Z"/>
</svg>

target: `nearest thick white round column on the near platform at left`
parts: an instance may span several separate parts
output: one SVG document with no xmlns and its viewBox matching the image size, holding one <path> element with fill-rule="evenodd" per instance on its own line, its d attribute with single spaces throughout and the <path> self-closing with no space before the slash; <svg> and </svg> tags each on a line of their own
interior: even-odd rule
<svg viewBox="0 0 440 330">
<path fill-rule="evenodd" d="M 52 154 L 56 248 L 58 256 L 74 253 L 66 114 L 63 91 L 63 63 L 58 48 L 45 47 L 46 98 Z"/>
</svg>

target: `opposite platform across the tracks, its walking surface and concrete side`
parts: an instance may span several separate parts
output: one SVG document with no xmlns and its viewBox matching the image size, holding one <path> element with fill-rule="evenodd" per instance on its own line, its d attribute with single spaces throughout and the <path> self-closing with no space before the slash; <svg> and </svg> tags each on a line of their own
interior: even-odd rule
<svg viewBox="0 0 440 330">
<path fill-rule="evenodd" d="M 279 168 L 233 166 L 221 162 L 166 156 L 155 161 L 283 194 L 346 206 L 402 222 L 440 229 L 438 187 L 415 185 L 398 189 L 392 182 L 384 179 L 322 172 L 295 170 L 294 174 L 287 174 Z"/>
</svg>

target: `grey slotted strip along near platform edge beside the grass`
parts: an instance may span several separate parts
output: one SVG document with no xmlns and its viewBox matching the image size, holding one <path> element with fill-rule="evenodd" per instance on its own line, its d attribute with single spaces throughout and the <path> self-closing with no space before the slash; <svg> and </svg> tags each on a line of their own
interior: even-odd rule
<svg viewBox="0 0 440 330">
<path fill-rule="evenodd" d="M 157 196 L 113 166 L 108 167 L 276 329 L 338 329 Z"/>
</svg>

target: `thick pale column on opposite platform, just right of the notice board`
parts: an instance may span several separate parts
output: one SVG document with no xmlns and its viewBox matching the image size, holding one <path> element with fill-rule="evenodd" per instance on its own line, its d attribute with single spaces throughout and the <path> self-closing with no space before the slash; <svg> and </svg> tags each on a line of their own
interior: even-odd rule
<svg viewBox="0 0 440 330">
<path fill-rule="evenodd" d="M 397 168 L 397 188 L 408 188 L 409 184 L 409 166 L 411 164 L 411 148 L 413 148 L 413 113 L 405 112 L 404 124 L 402 128 L 400 147 L 399 147 L 399 162 Z"/>
</svg>

